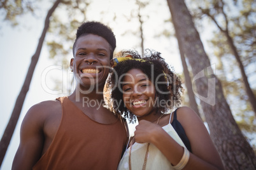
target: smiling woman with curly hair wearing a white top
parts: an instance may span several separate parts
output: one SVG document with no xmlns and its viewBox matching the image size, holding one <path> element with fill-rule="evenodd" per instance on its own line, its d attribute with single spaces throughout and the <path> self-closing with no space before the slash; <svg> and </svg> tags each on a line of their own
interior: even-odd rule
<svg viewBox="0 0 256 170">
<path fill-rule="evenodd" d="M 224 169 L 197 114 L 181 105 L 183 88 L 159 52 L 122 51 L 108 85 L 113 110 L 139 124 L 118 169 Z"/>
</svg>

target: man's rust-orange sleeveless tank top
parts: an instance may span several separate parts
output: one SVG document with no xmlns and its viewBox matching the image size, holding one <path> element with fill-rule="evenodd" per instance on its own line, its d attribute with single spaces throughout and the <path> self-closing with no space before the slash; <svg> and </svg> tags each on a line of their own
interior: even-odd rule
<svg viewBox="0 0 256 170">
<path fill-rule="evenodd" d="M 120 119 L 101 124 L 83 114 L 68 97 L 62 105 L 59 129 L 33 169 L 117 169 L 127 133 Z"/>
</svg>

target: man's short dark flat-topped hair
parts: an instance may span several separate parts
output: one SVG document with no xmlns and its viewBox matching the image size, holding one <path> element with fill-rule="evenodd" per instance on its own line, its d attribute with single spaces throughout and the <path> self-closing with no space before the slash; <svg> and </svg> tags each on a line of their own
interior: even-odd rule
<svg viewBox="0 0 256 170">
<path fill-rule="evenodd" d="M 80 25 L 80 27 L 78 27 L 78 29 L 76 30 L 76 40 L 73 45 L 73 55 L 74 56 L 75 56 L 74 50 L 75 50 L 76 41 L 78 40 L 78 38 L 80 36 L 87 35 L 87 34 L 95 34 L 97 36 L 101 36 L 104 39 L 106 39 L 106 41 L 108 41 L 108 43 L 111 46 L 110 59 L 113 58 L 113 51 L 115 50 L 115 48 L 117 46 L 115 34 L 112 32 L 110 27 L 108 27 L 107 25 L 104 25 L 103 23 L 100 23 L 100 22 L 94 22 L 94 21 L 85 22 L 82 25 Z"/>
</svg>

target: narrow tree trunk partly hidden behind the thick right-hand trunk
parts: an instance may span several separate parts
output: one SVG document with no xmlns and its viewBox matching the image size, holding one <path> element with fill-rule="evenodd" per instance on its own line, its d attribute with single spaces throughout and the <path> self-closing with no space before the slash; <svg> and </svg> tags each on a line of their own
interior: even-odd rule
<svg viewBox="0 0 256 170">
<path fill-rule="evenodd" d="M 186 59 L 185 59 L 184 53 L 182 51 L 180 41 L 178 41 L 178 45 L 179 45 L 179 49 L 180 49 L 180 58 L 181 58 L 181 63 L 182 63 L 183 72 L 184 72 L 184 76 L 185 76 L 185 85 L 186 85 L 186 88 L 187 88 L 187 91 L 188 91 L 189 106 L 201 118 L 201 115 L 199 114 L 199 110 L 198 110 L 198 107 L 197 107 L 195 95 L 194 95 L 194 90 L 193 90 L 193 86 L 192 86 L 192 82 L 191 82 L 191 77 L 189 75 Z"/>
</svg>

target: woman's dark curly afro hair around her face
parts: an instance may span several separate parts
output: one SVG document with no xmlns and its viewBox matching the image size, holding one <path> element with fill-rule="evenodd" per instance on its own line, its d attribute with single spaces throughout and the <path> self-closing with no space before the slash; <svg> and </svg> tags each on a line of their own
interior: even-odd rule
<svg viewBox="0 0 256 170">
<path fill-rule="evenodd" d="M 159 105 L 159 102 L 155 103 L 156 112 L 164 113 L 168 109 L 172 109 L 174 106 L 178 107 L 181 104 L 181 93 L 183 92 L 181 81 L 178 75 L 174 73 L 173 69 L 169 68 L 169 65 L 164 61 L 164 58 L 160 56 L 159 52 L 146 49 L 145 55 L 142 58 L 137 51 L 124 50 L 118 53 L 118 57 L 125 54 L 132 55 L 132 58 L 143 60 L 125 60 L 119 62 L 111 71 L 110 79 L 107 81 L 107 87 L 111 88 L 110 102 L 114 112 L 123 115 L 125 118 L 129 119 L 129 122 L 136 122 L 136 116 L 125 107 L 122 86 L 119 86 L 120 88 L 117 86 L 118 82 L 122 82 L 124 78 L 122 75 L 131 69 L 139 69 L 146 74 L 148 79 L 150 79 L 155 86 L 155 99 L 164 101 L 162 102 L 164 105 L 162 103 Z"/>
</svg>

